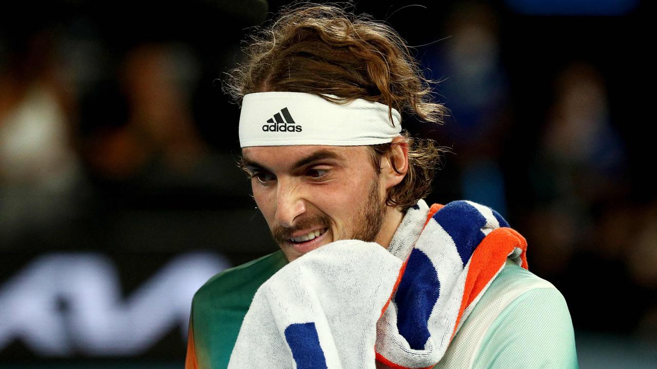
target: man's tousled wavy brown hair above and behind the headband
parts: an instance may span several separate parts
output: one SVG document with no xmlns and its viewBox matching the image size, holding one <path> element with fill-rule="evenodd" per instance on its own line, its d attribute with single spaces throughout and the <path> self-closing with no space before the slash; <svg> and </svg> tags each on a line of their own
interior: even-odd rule
<svg viewBox="0 0 657 369">
<path fill-rule="evenodd" d="M 367 14 L 356 16 L 336 5 L 297 4 L 256 30 L 244 50 L 244 62 L 224 83 L 238 104 L 248 93 L 303 92 L 337 104 L 354 98 L 380 102 L 390 107 L 391 121 L 392 108 L 422 121 L 443 121 L 445 107 L 430 98 L 433 81 L 422 76 L 403 39 Z M 448 150 L 406 132 L 403 136 L 409 170 L 389 190 L 386 204 L 407 209 L 429 194 L 436 163 Z M 371 145 L 375 168 L 391 147 Z"/>
</svg>

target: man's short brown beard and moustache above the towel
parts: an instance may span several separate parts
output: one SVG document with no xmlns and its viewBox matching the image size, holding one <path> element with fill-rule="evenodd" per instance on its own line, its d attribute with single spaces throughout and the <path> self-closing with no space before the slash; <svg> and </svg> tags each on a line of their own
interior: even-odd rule
<svg viewBox="0 0 657 369">
<path fill-rule="evenodd" d="M 379 199 L 378 176 L 374 177 L 373 185 L 367 194 L 367 201 L 359 209 L 356 219 L 350 219 L 355 227 L 352 234 L 334 234 L 333 241 L 337 240 L 361 240 L 365 242 L 374 242 L 378 232 L 383 225 L 386 213 L 386 204 Z M 300 229 L 309 229 L 316 227 L 329 228 L 330 219 L 327 215 L 313 215 L 301 219 L 294 227 L 285 228 L 280 225 L 271 229 L 271 236 L 279 244 L 283 245 L 292 238 L 292 234 Z"/>
</svg>

